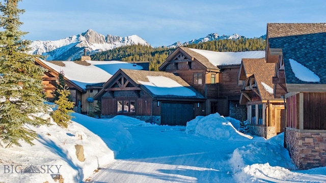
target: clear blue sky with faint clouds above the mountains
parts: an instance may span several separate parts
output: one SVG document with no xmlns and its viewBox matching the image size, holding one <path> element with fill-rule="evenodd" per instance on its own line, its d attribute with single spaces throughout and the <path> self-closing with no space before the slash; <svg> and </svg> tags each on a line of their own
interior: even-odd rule
<svg viewBox="0 0 326 183">
<path fill-rule="evenodd" d="M 102 35 L 138 35 L 152 46 L 211 33 L 248 38 L 266 34 L 267 23 L 326 22 L 324 0 L 23 0 L 23 39 L 59 40 L 88 29 Z"/>
</svg>

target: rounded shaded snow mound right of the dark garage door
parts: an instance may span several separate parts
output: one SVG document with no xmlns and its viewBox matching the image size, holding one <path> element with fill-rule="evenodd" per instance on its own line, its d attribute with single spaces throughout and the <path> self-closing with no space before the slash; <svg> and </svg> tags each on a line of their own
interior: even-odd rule
<svg viewBox="0 0 326 183">
<path fill-rule="evenodd" d="M 197 116 L 188 121 L 187 134 L 202 135 L 212 139 L 234 140 L 236 138 L 252 138 L 249 135 L 238 132 L 225 117 L 219 113 L 208 116 Z"/>
</svg>

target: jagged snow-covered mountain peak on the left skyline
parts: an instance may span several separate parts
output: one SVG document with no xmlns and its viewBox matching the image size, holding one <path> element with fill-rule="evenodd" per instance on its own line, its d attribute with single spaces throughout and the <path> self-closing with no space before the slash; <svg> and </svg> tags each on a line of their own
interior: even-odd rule
<svg viewBox="0 0 326 183">
<path fill-rule="evenodd" d="M 30 53 L 46 55 L 47 60 L 75 60 L 80 58 L 84 48 L 98 52 L 134 44 L 150 45 L 137 35 L 104 36 L 88 29 L 85 33 L 57 41 L 32 41 Z"/>
</svg>

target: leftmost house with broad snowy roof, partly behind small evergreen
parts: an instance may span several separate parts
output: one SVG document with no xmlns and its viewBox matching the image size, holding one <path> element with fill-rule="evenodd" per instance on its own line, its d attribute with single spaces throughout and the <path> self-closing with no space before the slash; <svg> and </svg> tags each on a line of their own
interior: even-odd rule
<svg viewBox="0 0 326 183">
<path fill-rule="evenodd" d="M 44 73 L 44 93 L 48 100 L 53 98 L 55 82 L 58 82 L 59 72 L 64 72 L 64 78 L 70 90 L 70 97 L 75 102 L 74 110 L 88 113 L 94 110 L 96 101 L 92 103 L 93 96 L 102 88 L 120 68 L 142 70 L 137 64 L 120 61 L 45 61 L 36 58 L 37 65 L 47 69 Z"/>
</svg>

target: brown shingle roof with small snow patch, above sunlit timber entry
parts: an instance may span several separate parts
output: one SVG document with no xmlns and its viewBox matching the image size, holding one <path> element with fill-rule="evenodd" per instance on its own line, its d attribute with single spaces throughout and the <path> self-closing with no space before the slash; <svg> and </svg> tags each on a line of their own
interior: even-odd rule
<svg viewBox="0 0 326 183">
<path fill-rule="evenodd" d="M 242 63 L 246 75 L 255 76 L 261 99 L 274 99 L 273 93 L 268 93 L 262 83 L 274 88 L 275 64 L 266 63 L 265 58 L 242 58 Z"/>
</svg>

